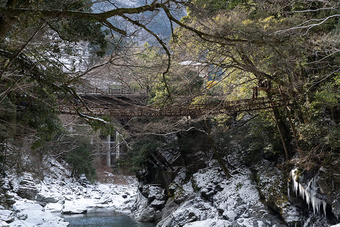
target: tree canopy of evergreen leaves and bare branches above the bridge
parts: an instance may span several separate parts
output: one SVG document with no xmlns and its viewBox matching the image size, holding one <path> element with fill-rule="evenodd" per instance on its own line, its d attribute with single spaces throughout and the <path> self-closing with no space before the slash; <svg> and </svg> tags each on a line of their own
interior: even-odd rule
<svg viewBox="0 0 340 227">
<path fill-rule="evenodd" d="M 92 11 L 102 2 L 110 7 Z M 178 18 L 184 8 L 187 15 Z M 149 103 L 202 103 L 213 100 L 214 91 L 228 100 L 252 98 L 255 91 L 288 99 L 286 107 L 261 114 L 265 127 L 277 125 L 274 147 L 281 138 L 286 156 L 294 154 L 287 149 L 292 144 L 300 155 L 320 143 L 339 151 L 339 11 L 336 0 L 146 0 L 132 6 L 1 0 L 1 139 L 32 131 L 48 134 L 37 143 L 53 137 L 60 127 L 56 94 L 77 97 L 72 84 L 111 64 L 126 67 L 135 84 L 151 91 Z M 171 39 L 150 27 L 159 12 Z M 157 46 L 133 43 L 141 30 Z M 108 60 L 93 64 L 104 54 Z M 187 60 L 208 66 L 210 81 L 182 67 Z"/>
</svg>

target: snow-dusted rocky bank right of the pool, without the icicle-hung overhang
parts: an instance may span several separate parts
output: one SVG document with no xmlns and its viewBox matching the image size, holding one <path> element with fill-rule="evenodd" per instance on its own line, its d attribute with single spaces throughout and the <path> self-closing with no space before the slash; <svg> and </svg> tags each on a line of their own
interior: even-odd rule
<svg viewBox="0 0 340 227">
<path fill-rule="evenodd" d="M 332 224 L 324 215 L 308 210 L 292 190 L 289 198 L 284 176 L 271 162 L 262 160 L 252 170 L 243 165 L 237 167 L 230 179 L 213 161 L 210 167 L 192 175 L 182 168 L 170 184 L 172 194 L 167 201 L 161 188 L 143 186 L 133 216 L 138 221 L 158 221 L 157 227 L 328 227 Z"/>
</svg>

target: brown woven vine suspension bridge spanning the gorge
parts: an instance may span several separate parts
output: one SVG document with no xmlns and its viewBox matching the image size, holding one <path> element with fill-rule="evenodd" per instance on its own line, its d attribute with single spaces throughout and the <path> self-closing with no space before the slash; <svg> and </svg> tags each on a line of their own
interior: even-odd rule
<svg viewBox="0 0 340 227">
<path fill-rule="evenodd" d="M 190 105 L 172 105 L 162 109 L 156 107 L 138 107 L 138 106 L 113 106 L 113 105 L 92 105 L 88 106 L 90 111 L 85 107 L 76 107 L 81 114 L 95 115 L 112 115 L 115 117 L 152 117 L 152 116 L 198 116 L 205 114 L 221 114 L 221 113 L 238 113 L 246 111 L 254 111 L 261 109 L 269 109 L 273 107 L 283 106 L 282 100 L 271 100 L 267 97 L 256 99 L 245 99 L 237 101 L 226 101 L 221 103 L 204 103 Z M 59 105 L 59 111 L 62 114 L 77 114 L 74 107 L 68 104 Z"/>
</svg>

